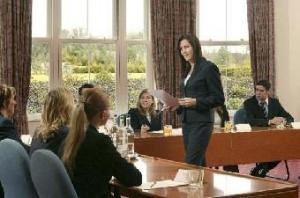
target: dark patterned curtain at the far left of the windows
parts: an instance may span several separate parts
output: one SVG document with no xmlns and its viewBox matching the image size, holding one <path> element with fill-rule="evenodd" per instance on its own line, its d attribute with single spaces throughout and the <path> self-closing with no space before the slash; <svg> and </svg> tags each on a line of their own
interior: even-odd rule
<svg viewBox="0 0 300 198">
<path fill-rule="evenodd" d="M 32 0 L 0 1 L 0 83 L 17 91 L 15 123 L 28 133 L 26 106 L 31 70 Z"/>
</svg>

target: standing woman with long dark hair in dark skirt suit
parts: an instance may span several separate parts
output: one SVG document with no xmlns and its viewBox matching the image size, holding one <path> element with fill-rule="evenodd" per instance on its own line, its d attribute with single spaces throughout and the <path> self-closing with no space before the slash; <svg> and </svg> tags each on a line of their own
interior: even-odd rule
<svg viewBox="0 0 300 198">
<path fill-rule="evenodd" d="M 178 50 L 182 65 L 181 115 L 187 163 L 205 166 L 205 152 L 213 131 L 213 108 L 224 104 L 218 67 L 202 56 L 198 38 L 181 36 Z"/>
</svg>

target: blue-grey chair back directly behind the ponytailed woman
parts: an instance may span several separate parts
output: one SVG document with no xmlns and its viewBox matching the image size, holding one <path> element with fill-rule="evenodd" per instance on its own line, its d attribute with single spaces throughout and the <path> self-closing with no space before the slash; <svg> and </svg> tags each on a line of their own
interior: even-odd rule
<svg viewBox="0 0 300 198">
<path fill-rule="evenodd" d="M 51 151 L 39 149 L 30 160 L 31 176 L 40 198 L 77 198 L 62 161 Z"/>
</svg>

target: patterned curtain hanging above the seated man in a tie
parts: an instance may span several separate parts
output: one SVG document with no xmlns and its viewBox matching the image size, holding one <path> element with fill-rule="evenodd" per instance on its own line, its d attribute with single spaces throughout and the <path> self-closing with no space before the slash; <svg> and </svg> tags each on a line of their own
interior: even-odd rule
<svg viewBox="0 0 300 198">
<path fill-rule="evenodd" d="M 275 93 L 273 0 L 247 0 L 249 45 L 253 82 L 269 80 Z"/>
</svg>

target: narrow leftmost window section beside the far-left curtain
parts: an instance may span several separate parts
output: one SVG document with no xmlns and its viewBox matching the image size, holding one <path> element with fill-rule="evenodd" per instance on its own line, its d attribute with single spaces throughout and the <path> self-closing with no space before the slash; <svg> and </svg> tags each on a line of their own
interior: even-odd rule
<svg viewBox="0 0 300 198">
<path fill-rule="evenodd" d="M 50 83 L 50 18 L 49 0 L 34 0 L 32 6 L 31 83 L 27 111 L 40 113 Z"/>
</svg>

